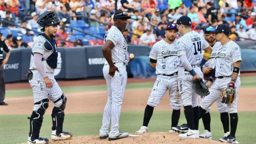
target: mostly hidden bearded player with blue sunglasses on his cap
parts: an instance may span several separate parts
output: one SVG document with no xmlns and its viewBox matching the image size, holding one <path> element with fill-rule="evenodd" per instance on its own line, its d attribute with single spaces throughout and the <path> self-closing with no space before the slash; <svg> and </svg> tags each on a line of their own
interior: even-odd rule
<svg viewBox="0 0 256 144">
<path fill-rule="evenodd" d="M 206 79 L 206 77 L 210 77 L 213 68 L 215 67 L 215 56 L 216 56 L 216 51 L 218 51 L 219 47 L 221 46 L 220 42 L 216 42 L 216 36 L 215 33 L 213 33 L 212 31 L 215 31 L 215 27 L 213 26 L 207 26 L 204 29 L 204 38 L 205 40 L 209 43 L 209 45 L 212 47 L 212 54 L 211 57 L 209 58 L 209 60 L 204 64 L 204 66 L 202 67 L 202 71 L 204 74 L 204 81 L 207 83 L 208 79 Z M 202 54 L 204 53 L 204 51 L 202 52 Z M 206 76 L 207 75 L 207 76 Z M 200 103 L 202 101 L 202 99 L 205 97 L 199 97 L 200 99 Z M 229 119 L 228 117 L 228 110 L 226 107 L 226 104 L 220 103 L 219 101 L 217 101 L 217 106 L 220 112 L 220 118 L 223 124 L 223 128 L 225 133 L 227 133 L 229 131 L 229 120 L 225 120 L 226 118 Z M 210 116 L 210 108 L 209 107 L 204 115 L 204 117 L 202 117 L 202 121 L 204 124 L 204 133 L 199 135 L 200 138 L 207 138 L 207 139 L 212 139 L 212 133 L 211 133 L 211 129 L 210 129 L 210 122 L 211 122 L 211 116 Z M 228 122 L 228 123 L 226 123 Z M 184 130 L 188 130 L 188 124 L 182 125 L 182 126 L 178 126 L 178 127 L 174 127 L 172 128 L 174 131 L 178 131 L 178 132 L 184 132 Z M 228 135 L 228 134 L 226 134 Z"/>
</svg>

